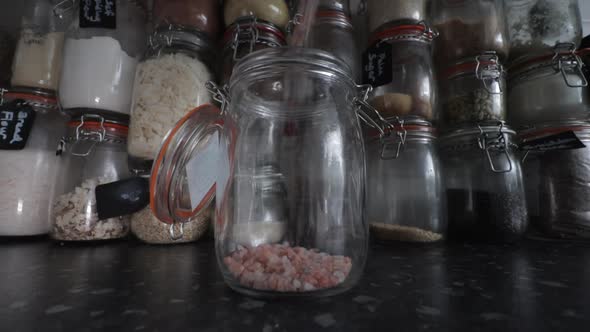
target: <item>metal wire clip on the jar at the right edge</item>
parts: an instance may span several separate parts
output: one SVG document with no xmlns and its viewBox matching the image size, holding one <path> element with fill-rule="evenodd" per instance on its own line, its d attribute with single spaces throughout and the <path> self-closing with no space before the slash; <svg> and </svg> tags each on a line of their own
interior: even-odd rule
<svg viewBox="0 0 590 332">
<path fill-rule="evenodd" d="M 588 80 L 584 76 L 582 67 L 584 62 L 576 54 L 576 44 L 574 43 L 560 43 L 555 45 L 553 55 L 553 67 L 555 70 L 561 72 L 565 84 L 570 88 L 580 88 L 588 86 Z M 576 75 L 580 78 L 580 83 L 572 82 L 568 78 L 568 73 Z"/>
</svg>

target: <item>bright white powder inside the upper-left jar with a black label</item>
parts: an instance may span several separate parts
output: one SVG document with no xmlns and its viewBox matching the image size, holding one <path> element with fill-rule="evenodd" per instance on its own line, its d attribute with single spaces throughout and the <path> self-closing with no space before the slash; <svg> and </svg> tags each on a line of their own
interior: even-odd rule
<svg viewBox="0 0 590 332">
<path fill-rule="evenodd" d="M 65 41 L 59 97 L 64 109 L 93 108 L 129 114 L 137 59 L 116 39 Z"/>
</svg>

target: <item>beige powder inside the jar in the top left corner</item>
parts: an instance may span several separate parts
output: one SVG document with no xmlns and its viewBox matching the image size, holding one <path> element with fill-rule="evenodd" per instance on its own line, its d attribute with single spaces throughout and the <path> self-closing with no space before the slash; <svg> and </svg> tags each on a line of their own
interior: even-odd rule
<svg viewBox="0 0 590 332">
<path fill-rule="evenodd" d="M 23 29 L 12 64 L 12 86 L 57 90 L 63 43 L 63 32 L 39 35 Z"/>
</svg>

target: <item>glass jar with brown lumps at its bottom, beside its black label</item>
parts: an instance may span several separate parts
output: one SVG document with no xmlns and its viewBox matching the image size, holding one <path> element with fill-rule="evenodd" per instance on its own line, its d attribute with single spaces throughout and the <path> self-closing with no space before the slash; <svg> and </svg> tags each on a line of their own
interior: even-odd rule
<svg viewBox="0 0 590 332">
<path fill-rule="evenodd" d="M 391 49 L 391 81 L 370 83 L 374 89 L 370 103 L 382 116 L 417 116 L 438 120 L 438 91 L 432 65 L 432 36 L 423 26 L 391 28 L 374 35 L 375 44 Z M 387 61 L 387 60 L 386 60 Z M 387 67 L 386 67 L 387 68 Z"/>
</svg>

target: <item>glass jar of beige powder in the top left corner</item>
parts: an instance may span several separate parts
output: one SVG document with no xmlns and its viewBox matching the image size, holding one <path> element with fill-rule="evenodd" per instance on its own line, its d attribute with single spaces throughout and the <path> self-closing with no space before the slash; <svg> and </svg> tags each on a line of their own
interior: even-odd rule
<svg viewBox="0 0 590 332">
<path fill-rule="evenodd" d="M 10 84 L 20 98 L 56 108 L 64 31 L 71 12 L 61 0 L 26 0 Z"/>
</svg>

